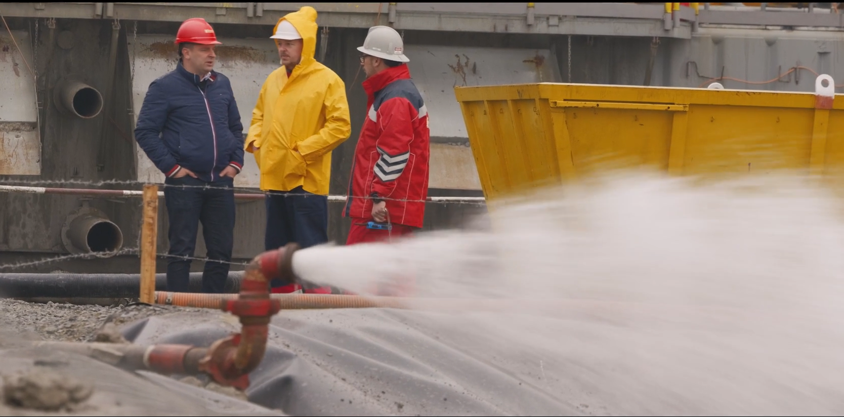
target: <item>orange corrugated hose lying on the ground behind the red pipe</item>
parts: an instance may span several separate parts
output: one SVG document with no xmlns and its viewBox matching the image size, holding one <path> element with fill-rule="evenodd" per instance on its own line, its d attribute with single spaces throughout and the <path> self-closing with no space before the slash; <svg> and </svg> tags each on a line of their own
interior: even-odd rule
<svg viewBox="0 0 844 417">
<path fill-rule="evenodd" d="M 283 310 L 309 308 L 406 308 L 398 297 L 365 297 L 361 295 L 333 294 L 272 294 L 273 299 L 281 301 Z M 236 294 L 201 294 L 155 292 L 155 304 L 167 306 L 214 308 L 219 309 L 224 301 L 235 300 Z"/>
</svg>

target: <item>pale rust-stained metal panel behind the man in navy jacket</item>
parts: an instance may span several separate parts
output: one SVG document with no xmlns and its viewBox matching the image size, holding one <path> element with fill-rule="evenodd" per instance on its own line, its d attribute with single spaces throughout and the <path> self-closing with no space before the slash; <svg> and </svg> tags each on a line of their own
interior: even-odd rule
<svg viewBox="0 0 844 417">
<path fill-rule="evenodd" d="M 244 133 L 252 123 L 252 108 L 261 91 L 263 80 L 279 68 L 278 51 L 270 39 L 220 38 L 217 46 L 217 63 L 214 69 L 230 79 L 237 108 L 241 114 Z M 135 68 L 133 81 L 133 108 L 135 119 L 143 105 L 149 84 L 176 67 L 177 51 L 172 36 L 127 36 L 130 65 Z M 137 42 L 137 44 L 136 44 Z M 164 182 L 164 174 L 149 160 L 143 149 L 135 145 L 138 160 L 138 181 Z M 255 158 L 246 154 L 243 171 L 235 178 L 235 187 L 255 187 L 260 184 L 260 172 Z"/>
</svg>

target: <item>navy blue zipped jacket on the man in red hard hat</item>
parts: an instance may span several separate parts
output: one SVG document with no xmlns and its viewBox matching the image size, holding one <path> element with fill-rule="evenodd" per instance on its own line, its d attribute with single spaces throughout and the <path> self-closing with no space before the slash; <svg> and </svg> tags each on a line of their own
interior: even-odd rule
<svg viewBox="0 0 844 417">
<path fill-rule="evenodd" d="M 204 89 L 204 90 L 203 90 Z M 208 79 L 181 66 L 149 84 L 135 140 L 166 176 L 185 167 L 203 181 L 218 181 L 226 166 L 243 168 L 243 125 L 229 79 Z"/>
</svg>

